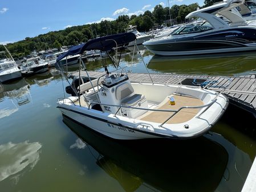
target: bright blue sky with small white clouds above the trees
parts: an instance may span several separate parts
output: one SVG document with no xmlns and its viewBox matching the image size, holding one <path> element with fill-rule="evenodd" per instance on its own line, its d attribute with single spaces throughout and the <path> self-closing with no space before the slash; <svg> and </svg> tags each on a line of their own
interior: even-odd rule
<svg viewBox="0 0 256 192">
<path fill-rule="evenodd" d="M 119 15 L 143 14 L 162 0 L 0 0 L 0 44 L 13 43 L 26 37 L 63 30 L 87 23 L 112 21 Z M 204 5 L 204 0 L 170 0 L 172 5 Z"/>
</svg>

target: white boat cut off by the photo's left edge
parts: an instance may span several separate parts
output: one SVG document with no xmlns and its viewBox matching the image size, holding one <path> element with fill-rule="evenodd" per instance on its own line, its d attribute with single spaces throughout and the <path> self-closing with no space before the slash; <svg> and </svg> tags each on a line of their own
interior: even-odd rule
<svg viewBox="0 0 256 192">
<path fill-rule="evenodd" d="M 4 46 L 5 47 L 5 46 Z M 6 48 L 6 47 L 5 47 Z M 10 58 L 7 57 L 6 52 L 10 55 Z M 10 52 L 6 48 L 5 51 L 1 51 L 0 54 L 4 55 L 4 58 L 0 59 L 0 82 L 10 81 L 20 78 L 21 70 L 18 68 L 17 63 L 11 56 Z"/>
</svg>

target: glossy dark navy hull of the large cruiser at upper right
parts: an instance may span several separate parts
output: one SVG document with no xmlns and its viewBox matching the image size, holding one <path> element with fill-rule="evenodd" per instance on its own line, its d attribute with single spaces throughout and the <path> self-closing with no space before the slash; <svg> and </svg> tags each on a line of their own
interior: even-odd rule
<svg viewBox="0 0 256 192">
<path fill-rule="evenodd" d="M 201 35 L 149 40 L 143 43 L 153 54 L 164 56 L 219 54 L 226 52 L 241 52 L 256 50 L 256 28 L 239 28 L 208 32 Z"/>
</svg>

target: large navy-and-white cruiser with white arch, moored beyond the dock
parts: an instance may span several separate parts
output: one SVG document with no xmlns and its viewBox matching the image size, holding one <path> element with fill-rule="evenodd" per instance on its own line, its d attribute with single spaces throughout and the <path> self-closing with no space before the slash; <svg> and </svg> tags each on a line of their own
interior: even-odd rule
<svg viewBox="0 0 256 192">
<path fill-rule="evenodd" d="M 186 24 L 167 37 L 143 44 L 153 54 L 170 56 L 255 51 L 256 26 L 248 26 L 241 15 L 230 11 L 242 3 L 229 0 L 193 11 L 186 18 L 196 17 L 203 22 Z"/>
</svg>

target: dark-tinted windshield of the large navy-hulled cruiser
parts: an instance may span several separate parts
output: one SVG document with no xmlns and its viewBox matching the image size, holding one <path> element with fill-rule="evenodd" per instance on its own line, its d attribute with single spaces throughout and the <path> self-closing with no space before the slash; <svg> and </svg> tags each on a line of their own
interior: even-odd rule
<svg viewBox="0 0 256 192">
<path fill-rule="evenodd" d="M 170 35 L 190 34 L 195 32 L 204 32 L 212 29 L 213 27 L 210 25 L 210 23 L 204 22 L 201 25 L 190 24 L 190 25 L 178 27 Z"/>
</svg>

